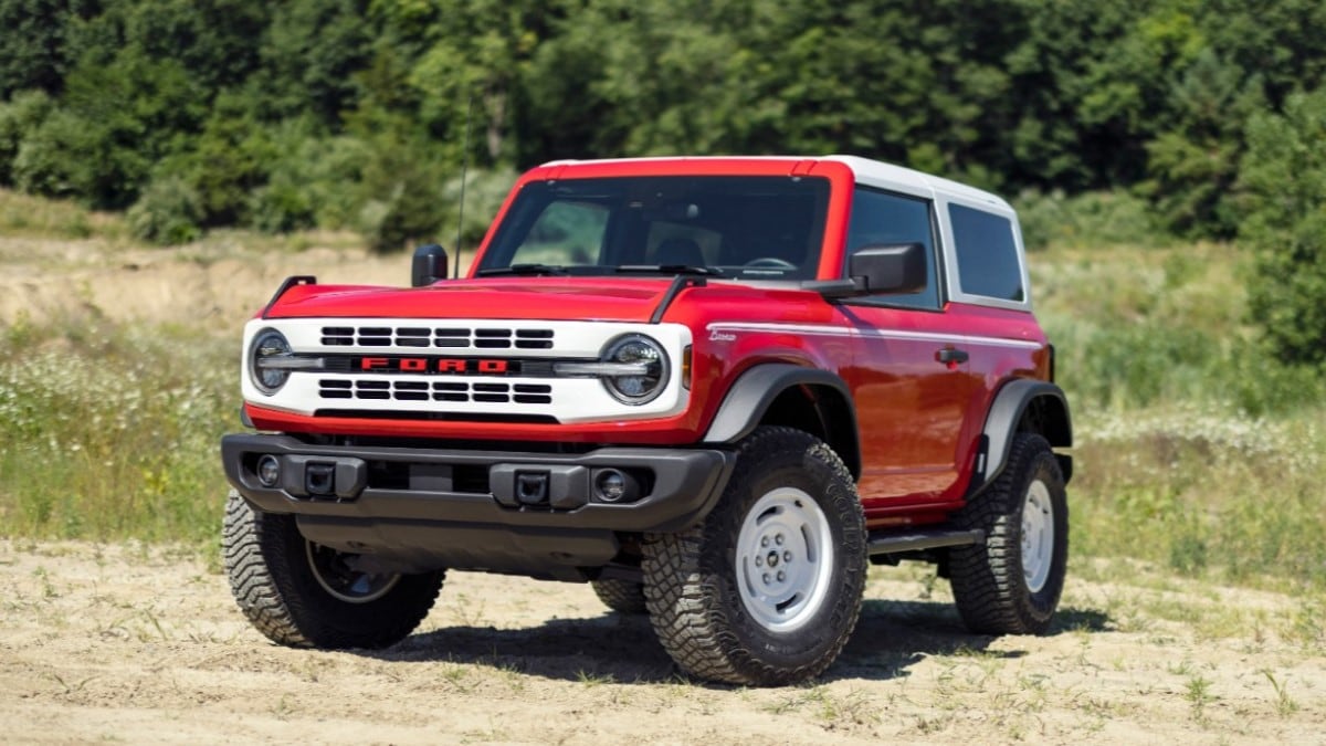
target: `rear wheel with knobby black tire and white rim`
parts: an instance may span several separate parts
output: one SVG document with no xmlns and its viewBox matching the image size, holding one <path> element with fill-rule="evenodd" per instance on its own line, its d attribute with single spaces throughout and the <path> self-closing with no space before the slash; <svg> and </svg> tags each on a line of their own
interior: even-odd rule
<svg viewBox="0 0 1326 746">
<path fill-rule="evenodd" d="M 1040 515 L 1024 515 L 1029 510 Z M 1037 434 L 1014 435 L 1004 471 L 961 510 L 957 522 L 985 531 L 985 546 L 949 551 L 953 600 L 968 629 L 983 634 L 1046 632 L 1063 591 L 1069 554 L 1067 494 L 1050 443 Z M 1028 526 L 1033 530 L 1024 536 Z M 1053 539 L 1048 540 L 1045 527 Z M 1038 588 L 1029 585 L 1028 572 Z"/>
</svg>

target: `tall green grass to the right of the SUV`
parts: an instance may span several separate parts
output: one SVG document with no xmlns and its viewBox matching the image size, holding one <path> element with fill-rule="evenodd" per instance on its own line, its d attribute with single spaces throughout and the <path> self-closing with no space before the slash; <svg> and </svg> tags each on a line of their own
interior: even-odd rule
<svg viewBox="0 0 1326 746">
<path fill-rule="evenodd" d="M 1074 406 L 1074 554 L 1326 589 L 1326 385 L 1244 324 L 1237 250 L 1052 248 L 1033 268 Z"/>
</svg>

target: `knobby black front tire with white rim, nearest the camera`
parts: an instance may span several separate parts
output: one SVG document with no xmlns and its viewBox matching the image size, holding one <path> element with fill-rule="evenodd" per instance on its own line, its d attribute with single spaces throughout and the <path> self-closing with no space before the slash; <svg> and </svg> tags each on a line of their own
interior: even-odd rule
<svg viewBox="0 0 1326 746">
<path fill-rule="evenodd" d="M 810 528 L 798 534 L 798 520 Z M 786 601 L 796 616 L 780 629 L 776 603 L 748 601 L 772 555 L 747 550 L 782 534 L 785 547 L 805 550 L 780 565 L 805 600 Z M 754 558 L 762 564 L 752 575 Z M 713 512 L 687 531 L 647 535 L 642 569 L 654 631 L 688 674 L 754 686 L 813 678 L 838 657 L 861 616 L 869 564 L 851 474 L 822 441 L 790 427 L 760 427 L 741 441 Z M 806 569 L 817 580 L 798 585 L 794 577 Z M 770 580 L 764 576 L 765 589 Z"/>
</svg>

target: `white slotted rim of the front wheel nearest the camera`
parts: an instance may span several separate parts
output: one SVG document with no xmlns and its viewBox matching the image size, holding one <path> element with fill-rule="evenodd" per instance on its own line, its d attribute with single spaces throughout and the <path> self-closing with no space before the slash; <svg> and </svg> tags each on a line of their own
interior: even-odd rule
<svg viewBox="0 0 1326 746">
<path fill-rule="evenodd" d="M 792 487 L 768 492 L 737 535 L 741 605 L 765 629 L 800 629 L 829 593 L 833 552 L 829 520 L 810 495 Z"/>
</svg>

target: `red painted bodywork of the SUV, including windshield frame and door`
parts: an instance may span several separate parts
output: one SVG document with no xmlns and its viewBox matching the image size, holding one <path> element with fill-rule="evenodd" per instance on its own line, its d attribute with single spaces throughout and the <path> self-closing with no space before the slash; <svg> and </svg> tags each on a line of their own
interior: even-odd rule
<svg viewBox="0 0 1326 746">
<path fill-rule="evenodd" d="M 838 277 L 854 183 L 851 170 L 838 162 L 671 158 L 556 163 L 521 177 L 493 226 L 504 219 L 514 195 L 534 181 L 682 174 L 827 178 L 831 191 L 818 277 Z M 480 255 L 492 236 L 489 228 Z M 670 281 L 558 276 L 471 277 L 408 289 L 297 285 L 269 309 L 269 317 L 644 323 Z M 793 287 L 709 279 L 705 287 L 682 291 L 663 320 L 687 325 L 693 337 L 690 405 L 671 417 L 558 425 L 304 417 L 253 404 L 247 411 L 259 429 L 278 431 L 684 446 L 704 437 L 741 373 L 764 362 L 792 362 L 834 372 L 847 384 L 863 459 L 858 487 L 869 524 L 883 527 L 940 522 L 961 507 L 996 390 L 1013 378 L 1044 380 L 1049 374 L 1045 335 L 1024 311 L 957 303 L 939 312 L 906 311 L 829 303 Z M 965 352 L 965 361 L 937 360 L 937 352 L 947 348 Z M 501 358 L 361 360 L 362 370 L 503 373 L 507 365 Z"/>
</svg>

